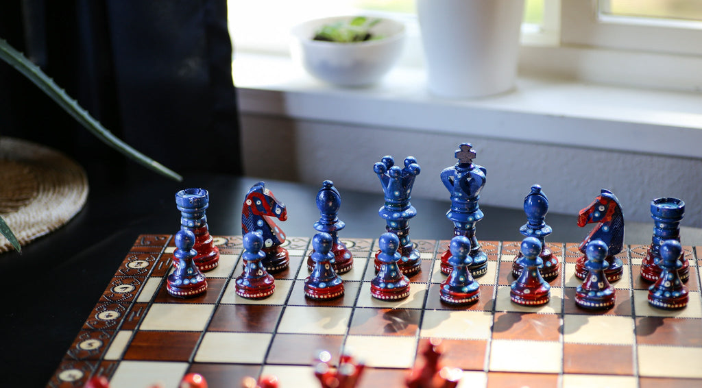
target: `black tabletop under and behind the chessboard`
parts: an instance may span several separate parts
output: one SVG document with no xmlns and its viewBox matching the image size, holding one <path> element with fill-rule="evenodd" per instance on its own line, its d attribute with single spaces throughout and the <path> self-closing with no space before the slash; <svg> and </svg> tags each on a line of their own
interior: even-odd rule
<svg viewBox="0 0 702 388">
<path fill-rule="evenodd" d="M 234 235 L 241 234 L 244 195 L 258 182 L 255 178 L 202 173 L 186 174 L 183 182 L 173 182 L 146 171 L 115 177 L 88 170 L 91 192 L 73 220 L 25 246 L 21 255 L 0 255 L 6 293 L 0 370 L 5 372 L 5 382 L 10 381 L 8 376 L 17 386 L 41 387 L 48 382 L 136 237 L 178 231 L 180 213 L 174 199 L 178 190 L 207 189 L 210 233 Z M 288 220 L 279 223 L 286 234 L 312 236 L 312 224 L 319 218 L 314 197 L 321 182 L 320 186 L 280 181 L 267 181 L 266 185 L 286 203 Z M 385 222 L 378 217 L 383 204 L 379 185 L 377 193 L 340 192 L 339 218 L 346 223 L 340 236 L 373 237 L 385 232 Z M 413 198 L 412 204 L 418 210 L 410 222 L 412 239 L 453 236 L 451 222 L 445 218 L 448 194 L 446 201 Z M 477 225 L 478 239 L 522 238 L 518 232 L 525 222 L 521 210 L 481 208 L 485 218 Z M 547 239 L 552 242 L 581 241 L 589 230 L 577 227 L 576 215 L 549 214 L 546 222 L 554 229 Z M 626 242 L 650 243 L 651 228 L 628 223 Z M 685 232 L 697 243 L 702 241 L 698 229 Z"/>
</svg>

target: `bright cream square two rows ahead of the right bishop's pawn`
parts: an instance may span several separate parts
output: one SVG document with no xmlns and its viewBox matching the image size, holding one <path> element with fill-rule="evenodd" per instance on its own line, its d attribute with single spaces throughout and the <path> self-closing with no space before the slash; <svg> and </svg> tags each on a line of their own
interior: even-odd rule
<svg viewBox="0 0 702 388">
<path fill-rule="evenodd" d="M 492 340 L 490 370 L 561 373 L 562 348 L 563 345 L 560 342 Z"/>
</svg>

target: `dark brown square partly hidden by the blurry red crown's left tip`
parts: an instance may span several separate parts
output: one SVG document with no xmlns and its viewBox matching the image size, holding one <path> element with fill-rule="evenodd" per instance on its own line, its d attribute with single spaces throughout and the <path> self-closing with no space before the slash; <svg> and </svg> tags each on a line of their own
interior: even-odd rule
<svg viewBox="0 0 702 388">
<path fill-rule="evenodd" d="M 331 354 L 331 364 L 338 365 L 343 335 L 277 334 L 268 351 L 266 363 L 309 366 L 320 351 Z"/>
</svg>

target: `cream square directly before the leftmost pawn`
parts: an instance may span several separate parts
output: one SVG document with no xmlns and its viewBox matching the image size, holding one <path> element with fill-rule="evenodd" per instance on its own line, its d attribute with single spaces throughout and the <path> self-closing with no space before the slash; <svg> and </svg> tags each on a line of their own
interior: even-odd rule
<svg viewBox="0 0 702 388">
<path fill-rule="evenodd" d="M 140 330 L 202 331 L 215 305 L 154 303 L 141 323 Z"/>
</svg>

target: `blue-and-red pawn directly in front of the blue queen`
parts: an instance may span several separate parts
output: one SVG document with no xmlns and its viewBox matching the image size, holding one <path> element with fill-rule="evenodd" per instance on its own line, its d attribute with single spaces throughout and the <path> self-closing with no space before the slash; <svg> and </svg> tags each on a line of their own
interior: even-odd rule
<svg viewBox="0 0 702 388">
<path fill-rule="evenodd" d="M 399 270 L 397 262 L 401 255 L 397 253 L 399 239 L 395 234 L 386 232 L 378 240 L 380 261 L 378 274 L 371 280 L 371 295 L 380 300 L 399 300 L 409 296 L 409 279 Z"/>
</svg>

